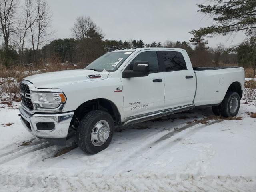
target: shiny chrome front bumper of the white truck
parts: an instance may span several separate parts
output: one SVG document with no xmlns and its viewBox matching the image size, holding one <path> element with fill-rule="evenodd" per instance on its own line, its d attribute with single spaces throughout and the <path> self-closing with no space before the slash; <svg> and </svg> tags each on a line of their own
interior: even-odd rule
<svg viewBox="0 0 256 192">
<path fill-rule="evenodd" d="M 74 115 L 74 112 L 30 114 L 24 109 L 22 104 L 20 104 L 19 110 L 22 124 L 32 135 L 50 139 L 66 138 L 71 119 Z M 52 130 L 38 130 L 36 124 L 39 122 L 53 122 L 54 128 Z"/>
</svg>

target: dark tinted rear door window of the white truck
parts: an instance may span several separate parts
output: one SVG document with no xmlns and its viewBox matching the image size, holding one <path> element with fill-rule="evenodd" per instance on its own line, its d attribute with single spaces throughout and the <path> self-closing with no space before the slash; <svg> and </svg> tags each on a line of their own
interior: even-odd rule
<svg viewBox="0 0 256 192">
<path fill-rule="evenodd" d="M 186 70 L 186 62 L 178 51 L 161 51 L 164 60 L 164 71 Z"/>
</svg>

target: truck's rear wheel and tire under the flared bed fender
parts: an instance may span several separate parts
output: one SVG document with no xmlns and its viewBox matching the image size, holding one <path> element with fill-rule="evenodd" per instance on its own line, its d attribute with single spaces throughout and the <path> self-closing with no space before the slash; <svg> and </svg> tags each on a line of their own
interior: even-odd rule
<svg viewBox="0 0 256 192">
<path fill-rule="evenodd" d="M 227 92 L 221 103 L 221 115 L 224 117 L 234 117 L 240 108 L 240 96 L 237 92 Z"/>
</svg>

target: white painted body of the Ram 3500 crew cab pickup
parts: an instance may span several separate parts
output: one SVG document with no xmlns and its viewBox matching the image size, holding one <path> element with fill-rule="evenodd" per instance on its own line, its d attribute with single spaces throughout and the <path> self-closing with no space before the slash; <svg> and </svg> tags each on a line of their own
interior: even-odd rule
<svg viewBox="0 0 256 192">
<path fill-rule="evenodd" d="M 30 123 L 29 131 L 42 138 L 66 138 L 70 124 L 67 123 L 68 128 L 60 126 L 61 131 L 58 130 L 58 132 L 65 131 L 61 136 L 56 136 L 56 134 L 52 134 L 54 130 L 38 131 L 35 122 L 31 122 L 31 118 L 34 114 L 45 116 L 44 113 L 49 116 L 50 114 L 56 116 L 56 112 L 60 116 L 65 113 L 74 114 L 84 103 L 99 99 L 100 101 L 109 101 L 114 105 L 119 116 L 116 117 L 119 120 L 115 120 L 115 124 L 116 126 L 124 126 L 182 110 L 189 110 L 195 106 L 218 105 L 234 83 L 237 86 L 238 94 L 242 97 L 244 69 L 241 67 L 193 69 L 186 51 L 176 48 L 137 48 L 115 50 L 111 53 L 115 52 L 128 54 L 128 57 L 116 70 L 111 72 L 89 69 L 67 70 L 24 78 L 22 84 L 29 84 L 30 92 L 33 92 L 33 89 L 38 92 L 58 90 L 56 92 L 63 92 L 66 96 L 66 102 L 58 110 L 36 108 L 35 104 L 33 104 L 33 108 L 29 109 L 21 103 L 20 114 L 23 120 L 25 119 Z M 123 78 L 122 74 L 127 70 L 127 66 L 143 52 L 154 52 L 158 55 L 158 72 L 149 73 L 148 76 Z M 164 62 L 160 58 L 160 53 L 163 52 L 179 52 L 182 54 L 186 62 L 186 69 L 162 70 L 161 65 Z M 119 60 L 122 60 L 122 58 L 120 57 Z M 70 122 L 72 122 L 72 117 L 69 117 Z M 58 123 L 54 122 L 54 124 Z"/>
</svg>

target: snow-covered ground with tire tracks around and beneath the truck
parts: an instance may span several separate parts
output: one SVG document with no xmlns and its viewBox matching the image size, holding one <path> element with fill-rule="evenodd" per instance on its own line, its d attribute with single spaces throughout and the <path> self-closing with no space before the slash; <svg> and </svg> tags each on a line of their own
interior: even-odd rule
<svg viewBox="0 0 256 192">
<path fill-rule="evenodd" d="M 241 104 L 242 120 L 202 124 L 212 112 L 200 107 L 143 122 L 88 155 L 74 138 L 64 148 L 33 137 L 18 109 L 0 108 L 0 191 L 254 192 L 256 118 L 249 112 L 256 106 Z"/>
</svg>

